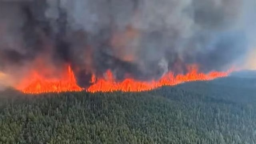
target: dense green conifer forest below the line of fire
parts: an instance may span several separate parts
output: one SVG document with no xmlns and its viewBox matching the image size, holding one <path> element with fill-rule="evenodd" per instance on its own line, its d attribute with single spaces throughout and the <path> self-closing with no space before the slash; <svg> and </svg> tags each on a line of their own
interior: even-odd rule
<svg viewBox="0 0 256 144">
<path fill-rule="evenodd" d="M 256 144 L 256 80 L 0 98 L 0 144 Z"/>
</svg>

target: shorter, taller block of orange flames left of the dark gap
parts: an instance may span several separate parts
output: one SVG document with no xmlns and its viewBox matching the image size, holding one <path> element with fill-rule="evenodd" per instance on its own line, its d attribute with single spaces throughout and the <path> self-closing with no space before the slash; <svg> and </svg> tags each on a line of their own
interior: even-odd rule
<svg viewBox="0 0 256 144">
<path fill-rule="evenodd" d="M 83 90 L 76 84 L 76 78 L 70 66 L 67 67 L 65 72 L 60 74 L 59 78 L 46 78 L 33 71 L 28 78 L 22 80 L 18 89 L 29 94 Z"/>
</svg>

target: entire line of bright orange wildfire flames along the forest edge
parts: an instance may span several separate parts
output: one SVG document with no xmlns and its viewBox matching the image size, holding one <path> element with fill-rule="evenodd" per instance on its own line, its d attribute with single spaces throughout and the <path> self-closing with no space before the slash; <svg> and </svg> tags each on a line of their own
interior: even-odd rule
<svg viewBox="0 0 256 144">
<path fill-rule="evenodd" d="M 208 74 L 198 72 L 198 67 L 190 66 L 187 74 L 174 75 L 172 72 L 165 74 L 160 80 L 153 80 L 150 82 L 142 82 L 132 78 L 126 78 L 121 82 L 117 82 L 110 70 L 106 72 L 105 78 L 96 80 L 96 76 L 92 76 L 91 82 L 94 82 L 89 88 L 80 88 L 70 66 L 62 78 L 47 79 L 40 76 L 37 72 L 33 72 L 30 78 L 26 78 L 21 85 L 27 85 L 25 88 L 19 88 L 24 93 L 39 94 L 47 92 L 66 92 L 66 91 L 82 91 L 88 92 L 141 92 L 152 90 L 161 86 L 174 86 L 183 82 L 199 81 L 199 80 L 213 80 L 215 78 L 226 77 L 231 71 L 217 72 L 213 71 Z M 30 82 L 32 80 L 32 82 Z M 29 83 L 30 82 L 30 83 Z M 28 84 L 29 83 L 29 84 Z"/>
</svg>

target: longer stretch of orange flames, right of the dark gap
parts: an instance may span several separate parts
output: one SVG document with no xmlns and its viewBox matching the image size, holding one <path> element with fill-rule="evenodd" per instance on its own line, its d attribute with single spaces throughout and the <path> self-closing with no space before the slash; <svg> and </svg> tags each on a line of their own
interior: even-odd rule
<svg viewBox="0 0 256 144">
<path fill-rule="evenodd" d="M 124 91 L 124 92 L 141 92 L 146 90 L 152 90 L 161 86 L 174 86 L 182 82 L 200 81 L 200 80 L 213 80 L 215 78 L 228 76 L 230 72 L 210 72 L 208 74 L 198 72 L 196 65 L 188 67 L 188 73 L 183 75 L 179 74 L 174 76 L 172 72 L 164 75 L 160 80 L 142 82 L 127 78 L 122 82 L 116 82 L 110 70 L 106 72 L 106 78 L 99 79 L 90 86 L 88 92 L 113 92 L 113 91 Z"/>
</svg>

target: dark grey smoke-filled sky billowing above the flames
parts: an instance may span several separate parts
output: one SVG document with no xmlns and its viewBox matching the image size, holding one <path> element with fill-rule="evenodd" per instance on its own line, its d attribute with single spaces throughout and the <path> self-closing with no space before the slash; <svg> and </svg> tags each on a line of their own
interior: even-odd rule
<svg viewBox="0 0 256 144">
<path fill-rule="evenodd" d="M 255 0 L 0 0 L 0 71 L 18 79 L 71 64 L 87 86 L 107 69 L 148 80 L 194 63 L 204 72 L 252 68 L 255 8 Z"/>
</svg>

